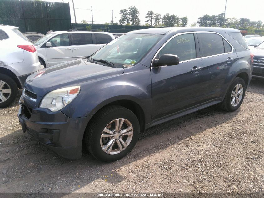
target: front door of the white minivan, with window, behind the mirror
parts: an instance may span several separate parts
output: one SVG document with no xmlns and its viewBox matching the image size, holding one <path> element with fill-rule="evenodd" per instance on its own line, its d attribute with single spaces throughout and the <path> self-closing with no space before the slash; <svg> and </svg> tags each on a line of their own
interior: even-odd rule
<svg viewBox="0 0 264 198">
<path fill-rule="evenodd" d="M 73 60 L 72 45 L 69 34 L 59 34 L 48 42 L 51 47 L 46 47 L 46 56 L 49 66 Z"/>
</svg>

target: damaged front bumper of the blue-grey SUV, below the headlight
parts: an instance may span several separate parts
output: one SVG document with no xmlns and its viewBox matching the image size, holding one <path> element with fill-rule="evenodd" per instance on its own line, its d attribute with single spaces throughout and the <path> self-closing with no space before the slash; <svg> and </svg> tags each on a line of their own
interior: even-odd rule
<svg viewBox="0 0 264 198">
<path fill-rule="evenodd" d="M 82 157 L 82 138 L 91 117 L 69 118 L 61 111 L 30 109 L 24 104 L 18 113 L 23 132 L 27 131 L 42 145 L 70 160 Z"/>
</svg>

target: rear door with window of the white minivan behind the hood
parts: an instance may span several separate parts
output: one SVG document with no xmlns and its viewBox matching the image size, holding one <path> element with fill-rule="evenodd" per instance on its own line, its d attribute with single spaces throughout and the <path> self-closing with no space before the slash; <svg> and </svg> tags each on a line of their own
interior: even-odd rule
<svg viewBox="0 0 264 198">
<path fill-rule="evenodd" d="M 71 33 L 73 60 L 90 56 L 97 51 L 92 33 Z"/>
</svg>

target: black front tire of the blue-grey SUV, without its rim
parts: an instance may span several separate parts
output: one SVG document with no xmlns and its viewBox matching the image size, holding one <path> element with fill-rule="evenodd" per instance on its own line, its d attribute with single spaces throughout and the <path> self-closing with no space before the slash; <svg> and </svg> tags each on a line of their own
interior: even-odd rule
<svg viewBox="0 0 264 198">
<path fill-rule="evenodd" d="M 101 148 L 101 134 L 103 129 L 114 119 L 118 118 L 124 118 L 131 122 L 133 126 L 133 137 L 130 142 L 130 144 L 127 146 L 126 149 L 124 149 L 122 152 L 114 155 L 110 155 L 105 153 Z M 112 112 L 111 114 L 107 114 L 104 117 L 99 116 L 99 118 L 95 121 L 96 124 L 94 124 L 94 127 L 91 129 L 89 133 L 88 138 L 88 148 L 89 151 L 92 153 L 94 157 L 96 157 L 98 160 L 106 161 L 106 162 L 112 162 L 119 160 L 126 156 L 136 145 L 138 137 L 139 137 L 139 122 L 137 119 L 137 116 L 130 110 L 126 108 L 117 109 L 117 111 Z M 92 137 L 93 136 L 93 137 Z"/>
</svg>

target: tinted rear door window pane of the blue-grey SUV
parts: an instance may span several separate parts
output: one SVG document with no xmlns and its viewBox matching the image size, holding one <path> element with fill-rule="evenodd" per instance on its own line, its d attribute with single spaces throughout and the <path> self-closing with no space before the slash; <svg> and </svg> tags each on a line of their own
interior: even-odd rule
<svg viewBox="0 0 264 198">
<path fill-rule="evenodd" d="M 223 38 L 215 33 L 198 33 L 201 57 L 225 53 Z"/>
</svg>

